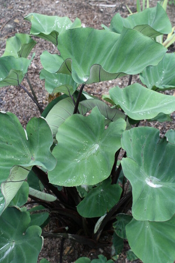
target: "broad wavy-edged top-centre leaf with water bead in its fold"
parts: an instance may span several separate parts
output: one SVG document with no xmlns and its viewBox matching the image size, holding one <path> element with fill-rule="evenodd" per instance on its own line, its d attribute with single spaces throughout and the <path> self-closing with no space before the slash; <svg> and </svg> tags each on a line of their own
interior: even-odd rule
<svg viewBox="0 0 175 263">
<path fill-rule="evenodd" d="M 137 74 L 157 65 L 166 53 L 161 44 L 130 28 L 123 28 L 121 35 L 75 28 L 58 36 L 58 46 L 62 57 L 45 56 L 43 67 L 51 73 L 72 73 L 75 82 L 87 84 Z"/>
</svg>

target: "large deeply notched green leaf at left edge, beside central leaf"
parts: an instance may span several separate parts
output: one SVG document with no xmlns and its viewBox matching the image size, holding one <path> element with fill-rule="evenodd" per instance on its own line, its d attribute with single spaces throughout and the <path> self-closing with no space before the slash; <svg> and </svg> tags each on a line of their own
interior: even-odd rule
<svg viewBox="0 0 175 263">
<path fill-rule="evenodd" d="M 25 131 L 13 113 L 0 113 L 0 183 L 5 181 L 14 165 L 39 165 L 53 169 L 56 160 L 50 152 L 53 135 L 46 120 L 32 118 Z"/>
</svg>

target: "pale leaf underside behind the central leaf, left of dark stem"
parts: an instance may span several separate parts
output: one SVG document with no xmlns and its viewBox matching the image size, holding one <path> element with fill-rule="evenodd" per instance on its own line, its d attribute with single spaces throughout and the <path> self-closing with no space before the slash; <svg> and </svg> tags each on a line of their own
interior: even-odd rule
<svg viewBox="0 0 175 263">
<path fill-rule="evenodd" d="M 74 113 L 74 108 L 75 105 L 72 99 L 69 97 L 64 98 L 56 103 L 49 111 L 48 115 L 46 116 L 46 120 L 54 136 L 57 133 L 58 127 L 60 127 L 60 125 Z M 88 111 L 87 108 L 85 108 L 81 104 L 79 104 L 78 110 L 82 115 L 84 115 Z"/>
</svg>

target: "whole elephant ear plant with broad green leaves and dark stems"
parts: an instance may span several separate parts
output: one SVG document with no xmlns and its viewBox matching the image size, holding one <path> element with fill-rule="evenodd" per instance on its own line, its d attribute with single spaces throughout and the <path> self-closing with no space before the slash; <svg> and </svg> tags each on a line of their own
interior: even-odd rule
<svg viewBox="0 0 175 263">
<path fill-rule="evenodd" d="M 42 53 L 40 79 L 49 93 L 62 95 L 42 109 L 27 75 L 36 41 L 27 34 L 9 38 L 0 86 L 24 89 L 41 117 L 24 129 L 13 113 L 0 112 L 0 261 L 37 262 L 43 238 L 60 237 L 62 262 L 65 238 L 103 248 L 111 244 L 110 237 L 101 243 L 105 230 L 113 234 L 111 259 L 92 262 L 113 262 L 128 240 L 128 258 L 173 263 L 174 131 L 161 138 L 158 129 L 138 127 L 145 119 L 171 120 L 175 110 L 175 97 L 162 92 L 175 87 L 175 55 L 155 41 L 172 30 L 166 12 L 157 4 L 129 18 L 117 14 L 101 30 L 82 28 L 78 18 L 25 19 L 32 35 L 58 48 Z M 144 86 L 131 84 L 134 74 Z M 125 75 L 128 86 L 109 89 L 110 106 L 84 91 Z M 22 85 L 25 76 L 32 95 Z M 53 217 L 57 233 L 46 232 Z"/>
</svg>

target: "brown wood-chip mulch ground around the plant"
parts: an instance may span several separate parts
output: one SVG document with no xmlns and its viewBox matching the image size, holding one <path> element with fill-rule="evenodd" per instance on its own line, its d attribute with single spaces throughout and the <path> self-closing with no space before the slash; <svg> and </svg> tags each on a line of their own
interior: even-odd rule
<svg viewBox="0 0 175 263">
<path fill-rule="evenodd" d="M 156 0 L 150 1 L 150 7 L 155 6 L 157 3 Z M 102 5 L 115 5 L 113 7 L 104 7 Z M 23 20 L 25 15 L 29 13 L 42 13 L 47 15 L 58 15 L 58 16 L 68 16 L 72 21 L 78 17 L 81 22 L 86 27 L 95 27 L 101 29 L 101 23 L 105 25 L 109 25 L 111 18 L 115 15 L 115 13 L 119 12 L 120 15 L 126 17 L 128 15 L 128 11 L 126 8 L 126 4 L 129 6 L 132 12 L 136 12 L 136 0 L 132 1 L 101 1 L 101 0 L 91 0 L 91 1 L 48 1 L 48 0 L 31 0 L 31 1 L 0 1 L 1 8 L 1 17 L 0 17 L 0 56 L 3 54 L 6 39 L 8 37 L 14 36 L 15 33 L 28 33 L 30 31 L 30 23 L 28 21 Z M 171 20 L 172 25 L 175 25 L 175 7 L 174 5 L 167 7 L 167 13 Z M 36 55 L 34 57 L 31 66 L 29 67 L 29 79 L 33 88 L 36 92 L 36 96 L 38 97 L 39 103 L 46 107 L 48 104 L 48 93 L 44 88 L 44 82 L 39 79 L 39 72 L 42 69 L 39 55 L 44 50 L 48 50 L 50 53 L 57 53 L 57 49 L 55 46 L 47 42 L 43 39 L 37 39 L 33 37 L 38 44 L 34 47 L 32 52 L 35 52 Z M 170 47 L 171 50 L 174 49 L 174 46 Z M 99 98 L 102 94 L 108 94 L 109 88 L 113 86 L 126 86 L 129 77 L 118 78 L 113 81 L 106 81 L 98 84 L 90 84 L 87 85 L 86 91 L 90 92 L 93 95 L 97 95 Z M 132 83 L 138 81 L 139 76 L 134 76 L 132 79 Z M 22 84 L 27 87 L 29 90 L 26 79 L 24 78 Z M 165 94 L 169 93 L 165 92 Z M 173 92 L 171 92 L 173 94 Z M 3 111 L 11 111 L 17 115 L 23 127 L 26 126 L 27 122 L 31 117 L 39 116 L 39 111 L 36 105 L 31 101 L 28 95 L 18 88 L 17 86 L 8 86 L 1 88 L 0 90 L 0 110 Z M 147 126 L 153 126 L 160 129 L 161 134 L 163 135 L 167 129 L 175 128 L 175 115 L 172 114 L 172 122 L 146 122 Z M 50 222 L 47 226 L 47 230 L 55 229 L 55 222 Z M 103 237 L 104 240 L 108 239 L 108 236 Z M 110 241 L 110 240 L 108 240 Z M 72 243 L 66 241 L 64 244 L 64 255 L 67 253 L 69 248 L 71 248 Z M 50 262 L 57 263 L 59 262 L 59 250 L 60 250 L 60 240 L 45 239 L 44 247 L 42 252 L 40 253 L 39 259 L 46 257 Z M 119 259 L 116 262 L 123 263 L 129 262 L 126 259 L 125 252 L 128 250 L 127 243 L 125 244 L 125 249 L 122 254 L 119 256 Z M 103 248 L 99 250 L 91 250 L 86 246 L 81 244 L 73 245 L 71 253 L 69 255 L 64 256 L 63 262 L 70 263 L 74 262 L 78 257 L 88 256 L 91 259 L 97 258 L 97 255 L 104 254 L 108 258 L 110 258 L 110 247 Z M 137 260 L 135 262 L 141 262 Z"/>
</svg>

